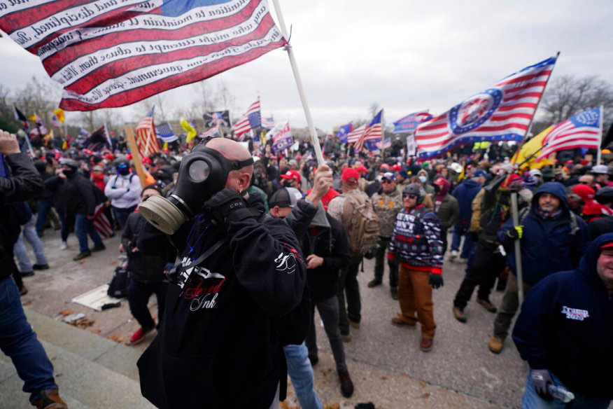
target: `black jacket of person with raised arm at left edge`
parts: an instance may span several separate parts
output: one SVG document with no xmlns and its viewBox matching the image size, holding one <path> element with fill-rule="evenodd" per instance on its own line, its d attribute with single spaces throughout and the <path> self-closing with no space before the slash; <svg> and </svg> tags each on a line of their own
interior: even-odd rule
<svg viewBox="0 0 613 409">
<path fill-rule="evenodd" d="M 0 280 L 17 272 L 13 246 L 21 231 L 12 204 L 29 200 L 43 189 L 43 180 L 25 153 L 4 157 L 6 176 L 0 177 Z"/>
</svg>

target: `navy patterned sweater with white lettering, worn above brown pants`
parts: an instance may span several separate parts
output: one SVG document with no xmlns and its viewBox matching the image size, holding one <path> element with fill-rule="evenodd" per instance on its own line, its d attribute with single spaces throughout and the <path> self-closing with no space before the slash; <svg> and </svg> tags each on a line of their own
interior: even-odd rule
<svg viewBox="0 0 613 409">
<path fill-rule="evenodd" d="M 442 250 L 439 218 L 430 209 L 418 205 L 397 214 L 388 258 L 410 270 L 442 274 Z"/>
</svg>

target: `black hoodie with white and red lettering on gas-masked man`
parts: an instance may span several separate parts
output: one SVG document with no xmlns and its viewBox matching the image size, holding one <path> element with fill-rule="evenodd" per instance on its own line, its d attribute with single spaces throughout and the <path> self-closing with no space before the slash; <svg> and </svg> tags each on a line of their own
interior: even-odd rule
<svg viewBox="0 0 613 409">
<path fill-rule="evenodd" d="M 158 408 L 268 408 L 285 362 L 277 322 L 300 303 L 306 275 L 293 231 L 267 217 L 226 232 L 200 217 L 171 241 L 186 270 L 169 285 L 162 328 L 139 359 L 143 396 Z M 161 254 L 164 242 L 147 224 L 137 245 Z"/>
</svg>

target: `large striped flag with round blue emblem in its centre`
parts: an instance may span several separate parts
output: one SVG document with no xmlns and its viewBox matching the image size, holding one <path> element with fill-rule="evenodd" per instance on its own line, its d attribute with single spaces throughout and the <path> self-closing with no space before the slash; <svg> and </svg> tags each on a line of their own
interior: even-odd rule
<svg viewBox="0 0 613 409">
<path fill-rule="evenodd" d="M 418 158 L 433 158 L 477 141 L 521 141 L 545 90 L 556 57 L 503 78 L 415 130 Z"/>
</svg>

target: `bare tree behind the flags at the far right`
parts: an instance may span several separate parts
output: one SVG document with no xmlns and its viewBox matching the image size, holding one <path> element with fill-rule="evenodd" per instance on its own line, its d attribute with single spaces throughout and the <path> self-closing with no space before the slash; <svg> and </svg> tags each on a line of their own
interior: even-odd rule
<svg viewBox="0 0 613 409">
<path fill-rule="evenodd" d="M 586 109 L 605 107 L 605 124 L 613 120 L 613 85 L 598 76 L 561 76 L 551 80 L 541 109 L 549 122 L 558 123 Z"/>
</svg>

